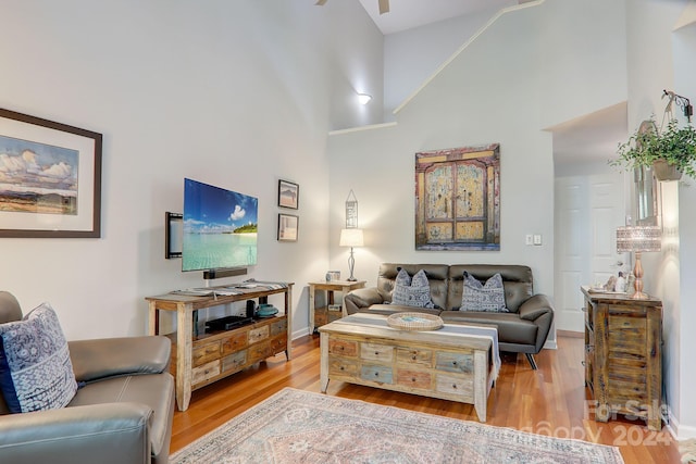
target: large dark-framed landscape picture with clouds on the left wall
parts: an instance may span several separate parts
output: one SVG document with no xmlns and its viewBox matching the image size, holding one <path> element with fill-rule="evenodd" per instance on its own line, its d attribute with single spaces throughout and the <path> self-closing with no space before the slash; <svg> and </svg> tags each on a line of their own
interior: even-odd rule
<svg viewBox="0 0 696 464">
<path fill-rule="evenodd" d="M 0 109 L 0 237 L 100 237 L 101 146 L 101 134 Z"/>
</svg>

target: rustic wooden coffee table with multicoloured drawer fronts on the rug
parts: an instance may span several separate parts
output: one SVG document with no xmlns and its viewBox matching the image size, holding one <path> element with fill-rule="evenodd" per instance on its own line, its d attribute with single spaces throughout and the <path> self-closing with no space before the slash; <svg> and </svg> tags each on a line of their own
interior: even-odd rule
<svg viewBox="0 0 696 464">
<path fill-rule="evenodd" d="M 319 331 L 323 393 L 330 379 L 366 385 L 473 404 L 486 422 L 486 401 L 500 368 L 495 327 L 397 330 L 384 315 L 358 313 Z"/>
</svg>

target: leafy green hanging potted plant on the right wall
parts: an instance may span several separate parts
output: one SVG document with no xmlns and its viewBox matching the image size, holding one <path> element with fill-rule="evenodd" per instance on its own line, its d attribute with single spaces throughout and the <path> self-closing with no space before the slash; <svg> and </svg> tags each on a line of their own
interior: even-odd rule
<svg viewBox="0 0 696 464">
<path fill-rule="evenodd" d="M 654 118 L 644 121 L 617 152 L 619 158 L 609 161 L 612 166 L 652 167 L 658 180 L 679 180 L 682 174 L 696 179 L 696 131 L 691 123 L 680 127 L 670 120 L 658 130 Z"/>
</svg>

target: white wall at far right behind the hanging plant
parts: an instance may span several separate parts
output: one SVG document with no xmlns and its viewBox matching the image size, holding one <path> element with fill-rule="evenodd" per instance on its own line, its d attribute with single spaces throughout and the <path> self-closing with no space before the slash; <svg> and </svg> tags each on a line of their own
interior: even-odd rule
<svg viewBox="0 0 696 464">
<path fill-rule="evenodd" d="M 696 50 L 694 26 L 673 32 L 688 3 L 694 7 L 694 1 L 687 0 L 626 3 L 630 131 L 652 114 L 658 123 L 661 121 L 667 103 L 661 98 L 663 89 L 687 97 L 696 95 L 692 63 Z M 696 374 L 686 355 L 696 350 L 696 339 L 689 337 L 688 329 L 696 323 L 689 303 L 696 298 L 692 264 L 696 213 L 691 206 L 696 193 L 693 187 L 678 184 L 662 184 L 661 188 L 662 252 L 644 255 L 643 265 L 646 275 L 655 276 L 651 283 L 646 283 L 647 291 L 663 304 L 663 383 L 670 427 L 679 438 L 687 438 L 696 437 L 696 400 L 689 394 Z"/>
</svg>

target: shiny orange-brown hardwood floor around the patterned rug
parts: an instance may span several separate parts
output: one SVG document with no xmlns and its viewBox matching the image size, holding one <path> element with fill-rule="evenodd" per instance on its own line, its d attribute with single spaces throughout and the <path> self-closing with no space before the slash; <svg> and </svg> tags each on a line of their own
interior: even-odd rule
<svg viewBox="0 0 696 464">
<path fill-rule="evenodd" d="M 174 452 L 226 423 L 265 398 L 293 387 L 319 392 L 319 336 L 293 343 L 293 360 L 270 358 L 244 372 L 194 391 L 190 406 L 174 415 Z M 537 371 L 524 355 L 502 353 L 502 368 L 488 398 L 486 424 L 513 427 L 558 438 L 618 446 L 626 464 L 679 463 L 678 443 L 663 428 L 650 431 L 643 421 L 618 416 L 609 423 L 593 419 L 585 402 L 584 340 L 559 335 L 558 350 L 537 354 Z M 327 394 L 477 422 L 471 404 L 332 381 Z"/>
</svg>

